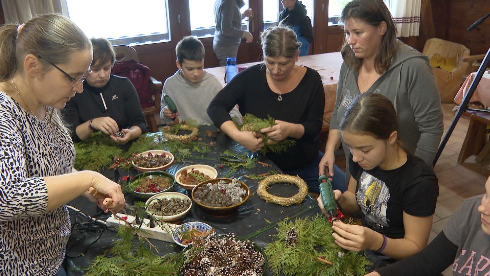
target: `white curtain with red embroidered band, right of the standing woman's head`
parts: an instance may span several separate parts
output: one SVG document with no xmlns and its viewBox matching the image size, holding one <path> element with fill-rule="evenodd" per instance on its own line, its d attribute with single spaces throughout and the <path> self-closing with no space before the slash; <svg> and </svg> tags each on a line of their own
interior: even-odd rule
<svg viewBox="0 0 490 276">
<path fill-rule="evenodd" d="M 418 36 L 422 0 L 384 0 L 398 29 L 397 37 Z"/>
</svg>

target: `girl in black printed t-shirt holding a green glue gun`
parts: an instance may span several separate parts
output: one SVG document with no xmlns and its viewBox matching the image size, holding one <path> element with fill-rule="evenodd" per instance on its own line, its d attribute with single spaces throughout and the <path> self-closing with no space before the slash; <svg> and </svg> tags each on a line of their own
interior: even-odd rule
<svg viewBox="0 0 490 276">
<path fill-rule="evenodd" d="M 357 96 L 340 122 L 350 150 L 351 178 L 335 199 L 347 213 L 362 211 L 363 226 L 333 223 L 335 242 L 368 250 L 373 267 L 411 256 L 427 245 L 439 194 L 437 177 L 398 140 L 391 101 L 376 93 Z M 321 198 L 318 203 L 324 211 Z"/>
</svg>

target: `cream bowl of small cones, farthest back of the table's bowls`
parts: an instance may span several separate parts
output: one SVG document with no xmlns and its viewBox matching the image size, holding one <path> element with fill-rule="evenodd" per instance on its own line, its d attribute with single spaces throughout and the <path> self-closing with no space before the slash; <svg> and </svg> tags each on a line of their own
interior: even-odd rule
<svg viewBox="0 0 490 276">
<path fill-rule="evenodd" d="M 141 172 L 165 170 L 175 160 L 172 153 L 166 150 L 148 150 L 132 158 L 134 169 Z"/>
</svg>

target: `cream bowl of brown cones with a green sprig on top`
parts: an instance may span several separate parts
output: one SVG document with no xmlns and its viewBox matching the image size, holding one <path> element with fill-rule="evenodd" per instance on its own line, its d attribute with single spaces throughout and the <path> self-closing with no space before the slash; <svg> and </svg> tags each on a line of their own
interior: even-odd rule
<svg viewBox="0 0 490 276">
<path fill-rule="evenodd" d="M 192 190 L 197 184 L 206 180 L 215 179 L 218 171 L 208 165 L 190 165 L 183 167 L 175 173 L 177 184 L 186 190 Z"/>
</svg>

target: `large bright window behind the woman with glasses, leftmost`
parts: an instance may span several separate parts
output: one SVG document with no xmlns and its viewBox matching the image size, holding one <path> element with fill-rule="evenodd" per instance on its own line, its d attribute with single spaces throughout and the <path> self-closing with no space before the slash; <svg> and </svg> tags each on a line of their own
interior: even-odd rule
<svg viewBox="0 0 490 276">
<path fill-rule="evenodd" d="M 88 37 L 112 44 L 170 41 L 168 0 L 66 0 L 70 19 Z"/>
</svg>

